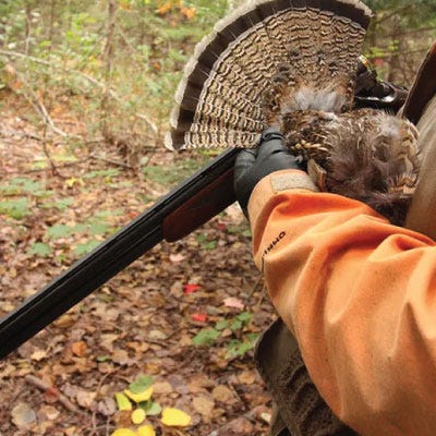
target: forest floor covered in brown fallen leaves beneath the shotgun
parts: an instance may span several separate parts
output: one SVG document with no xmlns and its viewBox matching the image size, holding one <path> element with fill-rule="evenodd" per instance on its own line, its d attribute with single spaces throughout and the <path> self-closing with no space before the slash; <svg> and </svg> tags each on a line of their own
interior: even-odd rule
<svg viewBox="0 0 436 436">
<path fill-rule="evenodd" d="M 45 141 L 24 102 L 1 98 L 0 317 L 150 206 L 171 174 L 205 161 L 159 147 L 145 170 L 124 168 L 116 149 Z M 73 117 L 51 114 L 82 134 Z M 114 395 L 144 376 L 154 390 L 140 405 L 156 435 L 265 435 L 270 398 L 253 364 L 274 319 L 263 288 L 235 205 L 160 243 L 0 362 L 0 435 L 136 432 Z M 162 408 L 190 425 L 164 425 Z"/>
</svg>

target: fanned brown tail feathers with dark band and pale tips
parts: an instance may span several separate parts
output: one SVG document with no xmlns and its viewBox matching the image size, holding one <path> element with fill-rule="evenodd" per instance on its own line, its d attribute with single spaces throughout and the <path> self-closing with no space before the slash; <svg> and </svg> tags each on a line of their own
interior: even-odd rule
<svg viewBox="0 0 436 436">
<path fill-rule="evenodd" d="M 360 0 L 251 0 L 185 66 L 171 149 L 253 147 L 293 110 L 348 110 L 371 10 Z"/>
</svg>

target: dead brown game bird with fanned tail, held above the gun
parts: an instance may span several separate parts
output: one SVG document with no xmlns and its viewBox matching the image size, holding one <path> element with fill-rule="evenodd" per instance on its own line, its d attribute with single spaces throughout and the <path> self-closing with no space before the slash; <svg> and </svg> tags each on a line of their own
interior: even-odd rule
<svg viewBox="0 0 436 436">
<path fill-rule="evenodd" d="M 417 183 L 416 129 L 353 106 L 371 16 L 360 0 L 246 2 L 197 45 L 166 145 L 255 147 L 277 125 L 320 190 L 402 225 Z"/>
</svg>

